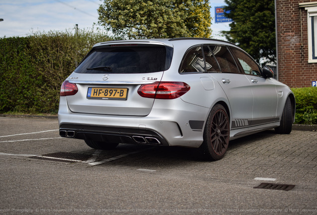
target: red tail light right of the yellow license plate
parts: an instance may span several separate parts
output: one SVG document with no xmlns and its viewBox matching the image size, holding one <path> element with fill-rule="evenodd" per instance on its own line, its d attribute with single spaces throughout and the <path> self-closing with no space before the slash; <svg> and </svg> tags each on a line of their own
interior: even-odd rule
<svg viewBox="0 0 317 215">
<path fill-rule="evenodd" d="M 141 85 L 138 94 L 152 99 L 176 99 L 190 90 L 184 82 L 155 82 Z"/>
</svg>

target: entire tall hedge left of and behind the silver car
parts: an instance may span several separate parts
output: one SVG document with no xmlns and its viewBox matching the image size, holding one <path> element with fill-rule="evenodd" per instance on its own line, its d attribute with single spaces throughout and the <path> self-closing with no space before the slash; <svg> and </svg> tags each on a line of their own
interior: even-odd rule
<svg viewBox="0 0 317 215">
<path fill-rule="evenodd" d="M 56 113 L 62 82 L 95 43 L 107 40 L 92 31 L 0 38 L 0 112 Z"/>
</svg>

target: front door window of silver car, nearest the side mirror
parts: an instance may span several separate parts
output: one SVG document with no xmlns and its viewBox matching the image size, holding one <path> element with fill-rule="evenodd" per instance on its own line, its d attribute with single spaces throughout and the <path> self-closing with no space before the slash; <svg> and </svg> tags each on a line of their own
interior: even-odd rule
<svg viewBox="0 0 317 215">
<path fill-rule="evenodd" d="M 243 53 L 242 51 L 238 49 L 232 49 L 234 55 L 237 57 L 239 60 L 243 71 L 247 75 L 256 75 L 256 76 L 261 76 L 260 68 L 252 58 L 250 58 L 248 55 Z"/>
</svg>

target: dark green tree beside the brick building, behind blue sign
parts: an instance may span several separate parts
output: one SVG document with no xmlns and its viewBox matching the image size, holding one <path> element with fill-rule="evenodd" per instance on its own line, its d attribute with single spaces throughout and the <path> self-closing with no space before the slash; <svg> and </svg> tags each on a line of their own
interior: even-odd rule
<svg viewBox="0 0 317 215">
<path fill-rule="evenodd" d="M 225 0 L 231 29 L 227 40 L 239 45 L 258 62 L 276 62 L 274 0 Z"/>
</svg>

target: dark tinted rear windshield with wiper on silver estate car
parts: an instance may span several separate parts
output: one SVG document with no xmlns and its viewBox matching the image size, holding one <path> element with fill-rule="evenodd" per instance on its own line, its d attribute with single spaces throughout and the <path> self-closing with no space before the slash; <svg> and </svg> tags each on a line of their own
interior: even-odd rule
<svg viewBox="0 0 317 215">
<path fill-rule="evenodd" d="M 172 48 L 167 46 L 108 46 L 93 49 L 76 73 L 153 73 L 167 70 Z"/>
</svg>

